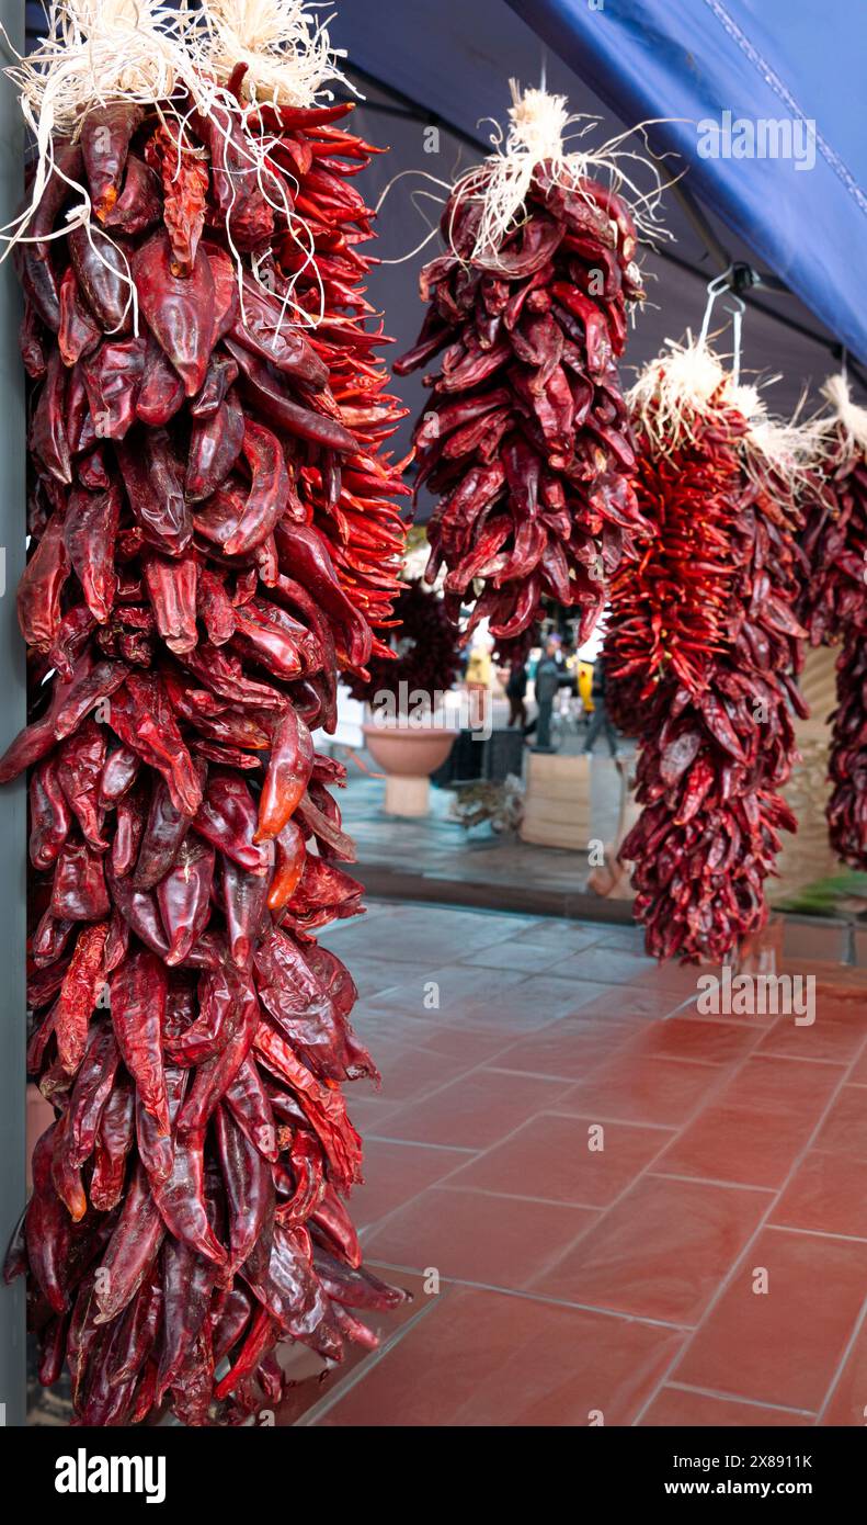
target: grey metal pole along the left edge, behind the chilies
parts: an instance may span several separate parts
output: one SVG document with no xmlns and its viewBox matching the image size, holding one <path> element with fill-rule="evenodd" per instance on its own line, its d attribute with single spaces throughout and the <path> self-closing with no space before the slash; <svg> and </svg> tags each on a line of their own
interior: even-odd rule
<svg viewBox="0 0 867 1525">
<path fill-rule="evenodd" d="M 0 0 L 12 47 L 24 49 L 21 0 Z M 0 78 L 0 224 L 21 200 L 24 124 L 8 79 Z M 17 332 L 20 297 L 11 261 L 0 265 L 0 752 L 26 720 L 24 648 L 15 587 L 24 566 L 24 383 Z M 24 906 L 26 785 L 0 790 L 0 1257 L 24 1205 Z M 24 1283 L 0 1284 L 0 1423 L 24 1424 Z"/>
</svg>

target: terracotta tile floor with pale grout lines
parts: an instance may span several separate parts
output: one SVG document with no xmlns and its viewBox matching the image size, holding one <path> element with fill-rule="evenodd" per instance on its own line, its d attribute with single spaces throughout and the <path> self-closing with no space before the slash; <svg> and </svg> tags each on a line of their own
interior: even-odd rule
<svg viewBox="0 0 867 1525">
<path fill-rule="evenodd" d="M 702 1017 L 629 929 L 375 904 L 328 933 L 382 1089 L 350 1087 L 381 1347 L 282 1424 L 862 1426 L 867 985 Z"/>
</svg>

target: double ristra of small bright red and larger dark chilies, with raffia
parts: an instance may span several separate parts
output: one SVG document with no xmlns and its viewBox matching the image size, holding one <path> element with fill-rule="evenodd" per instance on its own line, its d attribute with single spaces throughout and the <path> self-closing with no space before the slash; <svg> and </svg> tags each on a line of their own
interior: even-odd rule
<svg viewBox="0 0 867 1525">
<path fill-rule="evenodd" d="M 704 390 L 678 403 L 696 364 Z M 641 685 L 645 808 L 620 856 L 648 952 L 721 961 L 763 926 L 779 833 L 795 830 L 777 790 L 795 756 L 791 711 L 803 712 L 797 511 L 713 357 L 663 355 L 632 403 L 654 538 L 614 581 L 606 642 L 616 679 Z"/>
</svg>

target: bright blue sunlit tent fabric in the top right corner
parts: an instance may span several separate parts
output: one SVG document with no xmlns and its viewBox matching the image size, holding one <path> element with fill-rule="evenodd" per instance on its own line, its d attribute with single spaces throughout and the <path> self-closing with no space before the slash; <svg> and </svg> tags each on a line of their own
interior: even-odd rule
<svg viewBox="0 0 867 1525">
<path fill-rule="evenodd" d="M 680 154 L 684 186 L 867 360 L 865 6 L 509 5 L 622 120 L 669 119 L 648 128 L 654 149 Z"/>
</svg>

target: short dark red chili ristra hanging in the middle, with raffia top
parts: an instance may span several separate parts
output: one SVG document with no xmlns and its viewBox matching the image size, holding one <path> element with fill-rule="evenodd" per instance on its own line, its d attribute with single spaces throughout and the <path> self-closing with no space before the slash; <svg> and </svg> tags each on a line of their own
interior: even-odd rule
<svg viewBox="0 0 867 1525">
<path fill-rule="evenodd" d="M 587 639 L 645 529 L 616 366 L 645 294 L 632 217 L 562 156 L 562 98 L 513 98 L 507 154 L 451 191 L 446 253 L 421 278 L 428 313 L 395 364 L 405 375 L 440 355 L 414 432 L 418 486 L 439 499 L 425 576 L 445 569 L 453 618 L 471 605 L 468 633 L 488 619 L 501 651 L 544 596 L 576 607 Z"/>
</svg>

